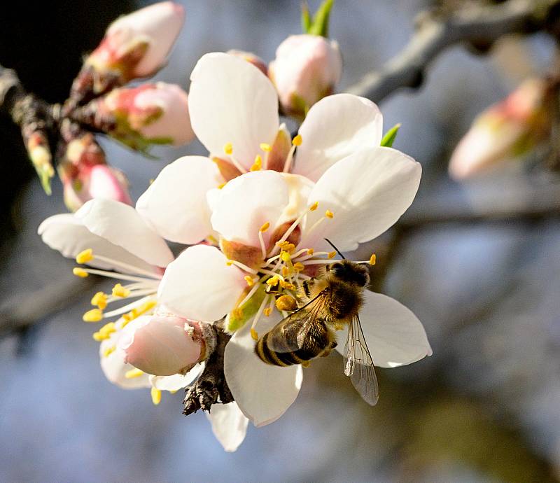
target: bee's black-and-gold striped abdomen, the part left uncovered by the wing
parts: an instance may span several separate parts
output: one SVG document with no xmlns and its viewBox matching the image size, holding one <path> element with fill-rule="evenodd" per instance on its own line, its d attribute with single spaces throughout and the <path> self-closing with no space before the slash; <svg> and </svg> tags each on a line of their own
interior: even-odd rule
<svg viewBox="0 0 560 483">
<path fill-rule="evenodd" d="M 313 327 L 307 333 L 301 349 L 296 351 L 274 351 L 270 349 L 268 340 L 271 335 L 272 337 L 279 337 L 279 334 L 273 334 L 276 330 L 281 330 L 281 326 L 277 325 L 260 337 L 255 345 L 255 353 L 260 360 L 267 364 L 286 366 L 305 363 L 318 356 L 327 355 L 337 345 L 334 335 L 327 328 L 325 322 L 316 320 Z"/>
</svg>

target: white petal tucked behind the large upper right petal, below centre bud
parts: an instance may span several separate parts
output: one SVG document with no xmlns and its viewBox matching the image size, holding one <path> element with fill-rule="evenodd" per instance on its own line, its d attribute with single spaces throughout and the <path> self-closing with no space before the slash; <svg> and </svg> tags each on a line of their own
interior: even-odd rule
<svg viewBox="0 0 560 483">
<path fill-rule="evenodd" d="M 292 172 L 317 181 L 335 162 L 379 146 L 383 116 L 376 104 L 353 94 L 324 97 L 309 109 Z"/>
</svg>

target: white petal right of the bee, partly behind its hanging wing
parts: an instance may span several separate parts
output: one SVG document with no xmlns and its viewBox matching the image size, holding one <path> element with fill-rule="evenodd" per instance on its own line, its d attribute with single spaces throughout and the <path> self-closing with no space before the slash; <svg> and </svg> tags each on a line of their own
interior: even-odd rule
<svg viewBox="0 0 560 483">
<path fill-rule="evenodd" d="M 381 293 L 365 290 L 360 322 L 379 367 L 398 367 L 432 355 L 426 331 L 416 316 L 400 302 Z M 337 351 L 344 353 L 348 331 L 337 332 Z"/>
</svg>

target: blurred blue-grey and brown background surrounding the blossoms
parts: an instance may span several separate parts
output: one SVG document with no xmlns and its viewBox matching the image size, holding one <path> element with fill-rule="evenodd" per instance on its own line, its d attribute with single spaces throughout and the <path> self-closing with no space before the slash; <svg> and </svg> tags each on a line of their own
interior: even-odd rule
<svg viewBox="0 0 560 483">
<path fill-rule="evenodd" d="M 14 5 L 3 15 L 0 63 L 29 91 L 62 102 L 106 25 L 147 3 Z M 300 33 L 298 0 L 183 4 L 186 25 L 157 78 L 185 88 L 204 52 L 239 48 L 268 61 Z M 344 55 L 339 91 L 395 55 L 429 5 L 339 0 L 330 21 Z M 430 65 L 421 90 L 381 104 L 386 127 L 402 123 L 395 148 L 424 174 L 379 285 L 419 316 L 433 356 L 377 370 L 373 408 L 342 374 L 339 356 L 317 360 L 288 412 L 250 427 L 234 454 L 204 414 L 181 414 L 182 391 L 155 407 L 149 391 L 106 381 L 81 314 L 108 286 L 72 276 L 72 260 L 36 235 L 44 218 L 66 211 L 62 190 L 54 183 L 45 197 L 18 130 L 1 119 L 0 481 L 560 481 L 560 217 L 542 210 L 559 206 L 560 179 L 521 164 L 462 184 L 447 176 L 477 113 L 545 73 L 553 55 L 545 34 L 503 38 L 487 56 L 454 47 Z M 160 159 L 149 160 L 101 142 L 129 176 L 134 200 L 165 164 L 204 153 L 195 142 L 155 148 Z M 488 216 L 517 212 L 524 215 Z"/>
</svg>

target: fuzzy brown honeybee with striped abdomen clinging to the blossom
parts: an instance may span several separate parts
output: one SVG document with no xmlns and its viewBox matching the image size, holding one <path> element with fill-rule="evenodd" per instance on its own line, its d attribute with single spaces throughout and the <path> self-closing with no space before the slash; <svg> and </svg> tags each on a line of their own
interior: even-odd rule
<svg viewBox="0 0 560 483">
<path fill-rule="evenodd" d="M 337 249 L 334 245 L 333 248 Z M 316 279 L 302 283 L 302 307 L 262 335 L 255 353 L 267 364 L 305 364 L 313 358 L 328 356 L 337 346 L 335 330 L 348 325 L 344 374 L 365 402 L 375 405 L 379 386 L 358 315 L 369 281 L 367 267 L 344 256 L 326 266 Z"/>
</svg>

